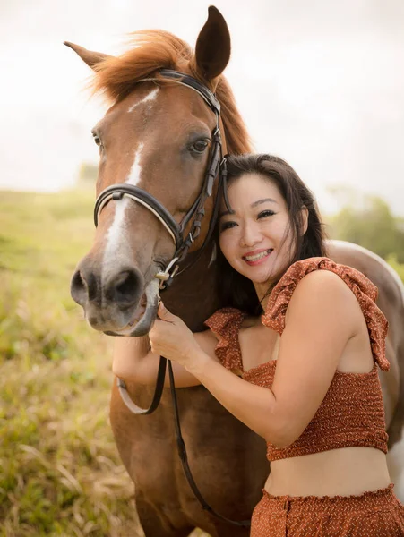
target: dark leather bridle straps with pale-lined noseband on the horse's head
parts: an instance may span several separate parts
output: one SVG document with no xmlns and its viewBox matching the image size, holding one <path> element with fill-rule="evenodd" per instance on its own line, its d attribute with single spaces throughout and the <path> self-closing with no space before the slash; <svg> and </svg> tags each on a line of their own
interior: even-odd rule
<svg viewBox="0 0 404 537">
<path fill-rule="evenodd" d="M 199 81 L 194 79 L 192 76 L 185 74 L 184 72 L 172 71 L 170 69 L 160 69 L 159 75 L 163 78 L 174 80 L 183 86 L 191 88 L 201 95 L 206 104 L 211 108 L 211 110 L 216 115 L 216 127 L 212 132 L 211 140 L 211 152 L 208 160 L 208 168 L 206 170 L 202 190 L 199 196 L 194 200 L 191 209 L 188 210 L 185 217 L 178 224 L 174 217 L 168 212 L 168 210 L 156 200 L 149 192 L 146 192 L 138 186 L 133 186 L 133 184 L 121 183 L 121 184 L 112 184 L 103 190 L 99 197 L 96 200 L 94 207 L 94 223 L 95 226 L 98 226 L 99 214 L 101 210 L 107 205 L 110 200 L 122 200 L 124 196 L 127 196 L 133 201 L 141 203 L 143 207 L 149 209 L 150 212 L 157 218 L 161 224 L 167 229 L 168 234 L 170 234 L 173 239 L 174 244 L 176 245 L 176 251 L 174 253 L 173 259 L 170 260 L 167 264 L 165 270 L 160 270 L 156 277 L 159 278 L 160 289 L 165 289 L 168 287 L 172 281 L 173 277 L 176 276 L 181 261 L 185 259 L 186 254 L 188 253 L 189 248 L 193 244 L 194 240 L 201 233 L 202 217 L 205 215 L 205 203 L 208 198 L 211 197 L 213 192 L 213 184 L 216 177 L 218 177 L 218 192 L 221 193 L 223 190 L 223 177 L 226 176 L 226 161 L 222 156 L 222 147 L 221 147 L 221 135 L 219 129 L 219 116 L 220 116 L 220 104 L 218 99 L 213 95 L 211 90 L 208 90 L 203 86 Z M 158 78 L 146 78 L 142 79 L 139 82 L 143 81 L 159 81 Z M 213 209 L 213 214 L 211 217 L 211 222 L 209 226 L 208 234 L 202 244 L 201 250 L 209 242 L 213 227 L 215 225 L 215 220 L 217 217 L 219 209 L 219 195 Z M 185 228 L 191 223 L 191 230 L 188 234 L 185 234 Z"/>
</svg>

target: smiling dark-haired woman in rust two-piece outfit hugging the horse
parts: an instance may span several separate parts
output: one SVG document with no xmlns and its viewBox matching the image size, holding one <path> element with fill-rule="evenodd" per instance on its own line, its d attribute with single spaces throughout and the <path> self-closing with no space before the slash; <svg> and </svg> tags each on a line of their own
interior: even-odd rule
<svg viewBox="0 0 404 537">
<path fill-rule="evenodd" d="M 160 304 L 150 341 L 116 342 L 114 372 L 154 382 L 162 354 L 177 386 L 202 383 L 266 439 L 271 474 L 253 537 L 404 535 L 385 457 L 376 288 L 324 257 L 313 196 L 280 158 L 228 158 L 227 193 L 219 262 L 234 307 L 193 335 Z"/>
</svg>

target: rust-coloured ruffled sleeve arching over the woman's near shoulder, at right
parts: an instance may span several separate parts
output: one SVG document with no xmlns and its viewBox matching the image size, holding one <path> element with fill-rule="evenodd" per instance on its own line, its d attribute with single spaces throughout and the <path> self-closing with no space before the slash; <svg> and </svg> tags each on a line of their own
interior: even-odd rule
<svg viewBox="0 0 404 537">
<path fill-rule="evenodd" d="M 355 268 L 339 265 L 328 258 L 310 258 L 294 263 L 272 289 L 268 306 L 262 315 L 262 324 L 282 334 L 288 303 L 299 281 L 314 270 L 330 270 L 347 284 L 357 297 L 365 317 L 374 360 L 383 371 L 390 364 L 385 357 L 388 323 L 383 312 L 375 304 L 377 287 Z"/>
</svg>

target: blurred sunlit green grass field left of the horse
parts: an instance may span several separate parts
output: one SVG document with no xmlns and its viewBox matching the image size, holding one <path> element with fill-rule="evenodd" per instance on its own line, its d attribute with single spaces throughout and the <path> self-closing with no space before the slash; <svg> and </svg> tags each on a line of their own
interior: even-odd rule
<svg viewBox="0 0 404 537">
<path fill-rule="evenodd" d="M 108 424 L 111 338 L 69 294 L 92 204 L 0 192 L 1 537 L 142 535 Z"/>
</svg>

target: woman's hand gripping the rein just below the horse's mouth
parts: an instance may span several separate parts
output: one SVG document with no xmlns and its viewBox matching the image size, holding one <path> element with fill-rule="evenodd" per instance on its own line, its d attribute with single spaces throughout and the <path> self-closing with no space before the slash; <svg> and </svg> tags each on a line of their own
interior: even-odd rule
<svg viewBox="0 0 404 537">
<path fill-rule="evenodd" d="M 149 332 L 151 351 L 186 367 L 201 352 L 201 347 L 185 322 L 170 313 L 163 303 L 159 303 L 158 315 Z"/>
</svg>

